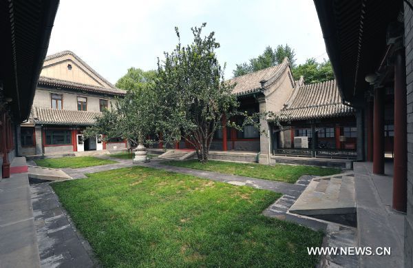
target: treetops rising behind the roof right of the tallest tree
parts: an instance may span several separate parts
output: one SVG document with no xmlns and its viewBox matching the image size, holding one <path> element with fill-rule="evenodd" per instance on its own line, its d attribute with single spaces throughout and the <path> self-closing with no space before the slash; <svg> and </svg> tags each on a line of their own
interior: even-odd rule
<svg viewBox="0 0 413 268">
<path fill-rule="evenodd" d="M 233 74 L 236 77 L 257 72 L 281 64 L 284 58 L 288 58 L 292 68 L 295 66 L 295 51 L 288 44 L 285 46 L 277 45 L 275 50 L 268 45 L 264 52 L 260 56 L 257 56 L 257 58 L 250 59 L 248 63 L 237 64 L 237 67 L 233 70 Z"/>
</svg>

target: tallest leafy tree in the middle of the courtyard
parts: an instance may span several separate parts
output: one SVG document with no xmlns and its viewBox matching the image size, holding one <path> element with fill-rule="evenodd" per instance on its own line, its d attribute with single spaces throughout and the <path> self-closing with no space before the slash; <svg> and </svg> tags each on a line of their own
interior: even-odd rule
<svg viewBox="0 0 413 268">
<path fill-rule="evenodd" d="M 222 116 L 231 118 L 237 113 L 237 99 L 232 94 L 234 85 L 224 83 L 224 69 L 215 50 L 220 43 L 214 32 L 202 36 L 200 28 L 191 28 L 193 42 L 180 43 L 165 59 L 158 59 L 158 79 L 154 90 L 159 98 L 160 128 L 165 143 L 184 138 L 193 145 L 198 160 L 208 161 L 209 148 L 215 131 L 222 127 Z M 251 122 L 248 119 L 246 123 Z M 234 126 L 233 122 L 229 125 Z"/>
</svg>

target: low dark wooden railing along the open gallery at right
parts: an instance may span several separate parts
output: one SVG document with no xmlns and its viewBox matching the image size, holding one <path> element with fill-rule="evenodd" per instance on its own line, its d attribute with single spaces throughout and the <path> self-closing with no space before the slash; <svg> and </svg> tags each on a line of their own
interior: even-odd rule
<svg viewBox="0 0 413 268">
<path fill-rule="evenodd" d="M 273 154 L 278 156 L 298 156 L 298 157 L 315 157 L 315 158 L 340 158 L 356 159 L 356 150 L 347 149 L 300 149 L 300 148 L 279 148 L 273 150 Z"/>
</svg>

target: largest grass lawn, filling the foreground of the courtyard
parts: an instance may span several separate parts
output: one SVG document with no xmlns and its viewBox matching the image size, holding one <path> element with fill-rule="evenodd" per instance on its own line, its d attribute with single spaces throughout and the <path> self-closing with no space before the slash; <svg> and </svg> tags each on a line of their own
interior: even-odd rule
<svg viewBox="0 0 413 268">
<path fill-rule="evenodd" d="M 281 194 L 127 167 L 52 183 L 104 267 L 315 267 L 321 232 L 267 218 Z"/>
</svg>

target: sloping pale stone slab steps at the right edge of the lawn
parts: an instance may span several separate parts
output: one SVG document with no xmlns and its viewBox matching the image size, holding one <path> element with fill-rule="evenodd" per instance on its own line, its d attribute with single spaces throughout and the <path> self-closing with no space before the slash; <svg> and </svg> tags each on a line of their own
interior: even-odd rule
<svg viewBox="0 0 413 268">
<path fill-rule="evenodd" d="M 313 178 L 289 212 L 356 226 L 354 175 Z"/>
</svg>

